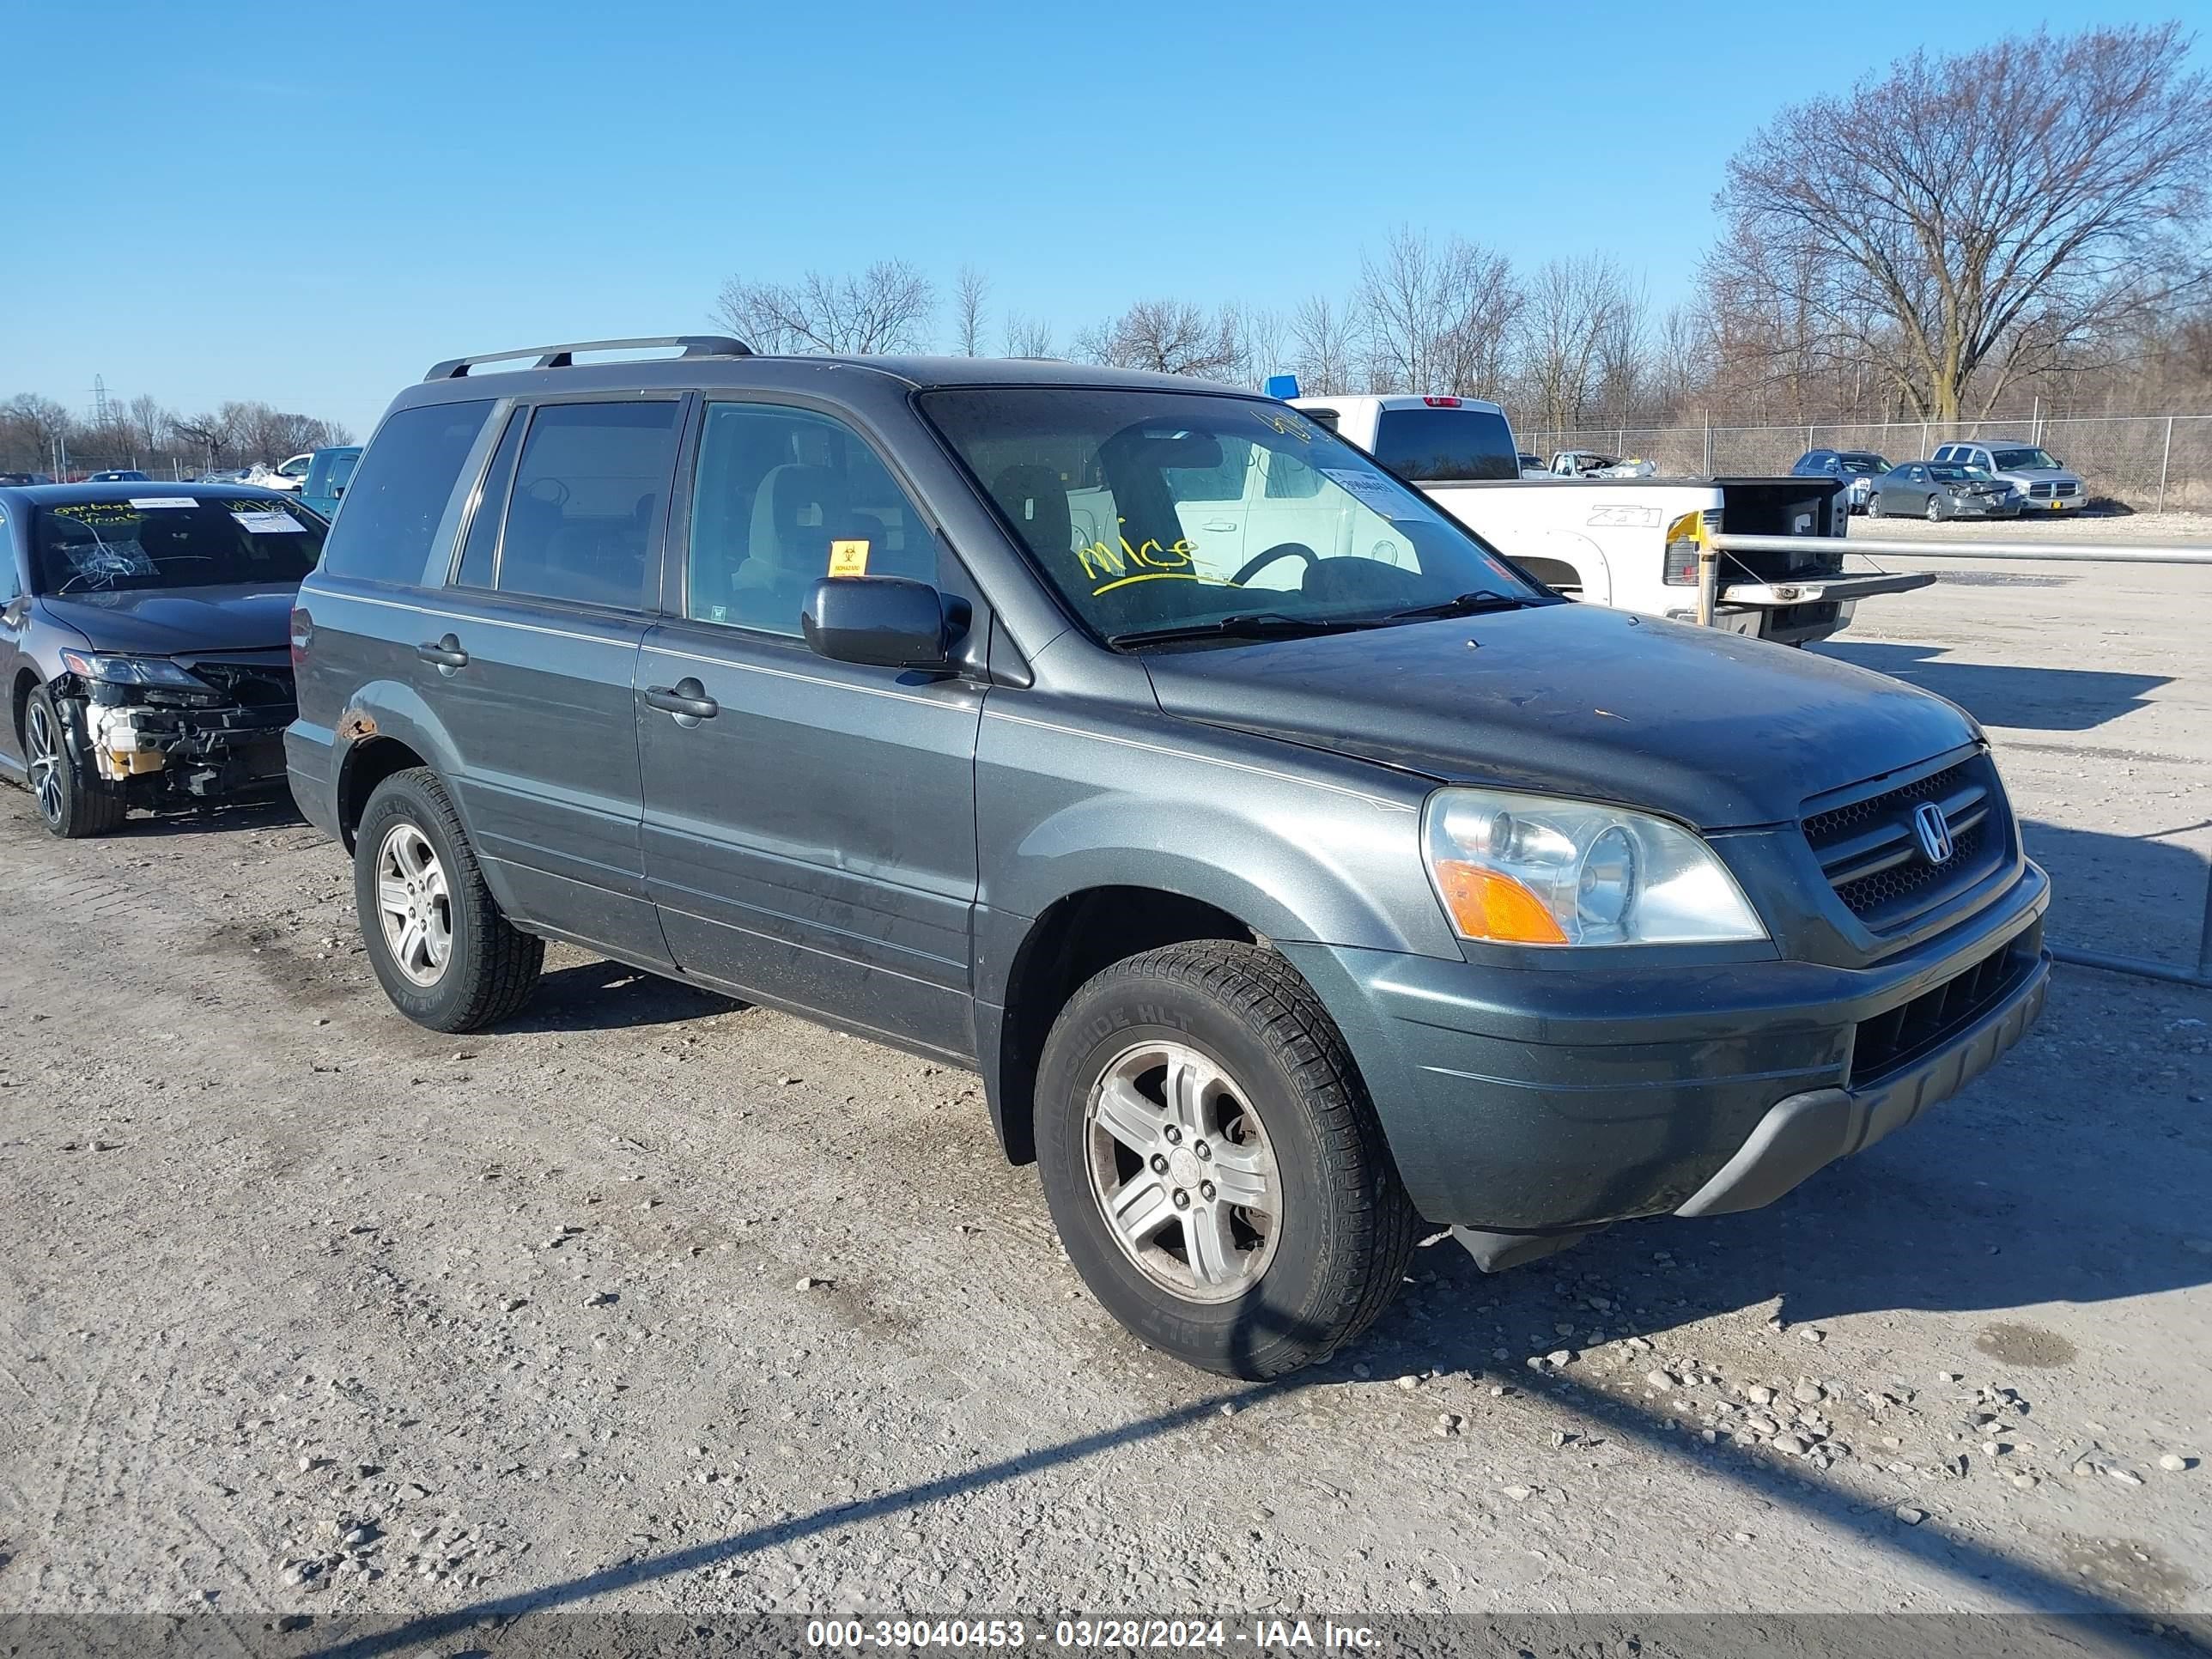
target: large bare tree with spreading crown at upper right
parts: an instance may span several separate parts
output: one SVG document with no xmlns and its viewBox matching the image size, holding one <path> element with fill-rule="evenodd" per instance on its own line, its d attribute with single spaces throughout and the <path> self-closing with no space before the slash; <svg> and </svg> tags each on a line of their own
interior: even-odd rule
<svg viewBox="0 0 2212 1659">
<path fill-rule="evenodd" d="M 2212 80 L 2188 46 L 2179 24 L 2037 31 L 1787 108 L 1728 166 L 1719 274 L 1818 319 L 1916 416 L 1989 409 L 2203 292 Z"/>
</svg>

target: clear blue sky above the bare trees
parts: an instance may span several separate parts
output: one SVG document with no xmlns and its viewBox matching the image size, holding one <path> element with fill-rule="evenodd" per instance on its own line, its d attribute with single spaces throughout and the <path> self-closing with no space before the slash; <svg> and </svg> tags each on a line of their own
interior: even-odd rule
<svg viewBox="0 0 2212 1659">
<path fill-rule="evenodd" d="M 434 358 L 699 330 L 732 272 L 973 263 L 995 314 L 1066 343 L 1139 296 L 1343 292 L 1398 223 L 1524 265 L 1604 248 L 1666 305 L 1781 102 L 1920 44 L 2174 15 L 2212 24 L 2203 0 L 24 9 L 0 396 L 88 405 L 100 374 L 365 434 Z"/>
</svg>

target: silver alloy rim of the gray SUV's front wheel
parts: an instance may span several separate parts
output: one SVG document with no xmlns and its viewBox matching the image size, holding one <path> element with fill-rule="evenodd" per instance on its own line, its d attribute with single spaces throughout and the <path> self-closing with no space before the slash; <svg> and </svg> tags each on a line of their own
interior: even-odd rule
<svg viewBox="0 0 2212 1659">
<path fill-rule="evenodd" d="M 1121 1051 L 1084 1106 L 1091 1197 L 1155 1285 L 1243 1296 L 1274 1261 L 1283 1177 L 1245 1091 L 1186 1042 Z"/>
</svg>

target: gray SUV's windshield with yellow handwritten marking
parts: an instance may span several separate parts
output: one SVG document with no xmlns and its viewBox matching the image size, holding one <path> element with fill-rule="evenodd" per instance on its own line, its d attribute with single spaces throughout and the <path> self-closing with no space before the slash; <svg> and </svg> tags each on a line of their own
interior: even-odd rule
<svg viewBox="0 0 2212 1659">
<path fill-rule="evenodd" d="M 1420 493 L 1279 403 L 1004 387 L 929 392 L 920 407 L 1108 641 L 1544 602 Z"/>
</svg>

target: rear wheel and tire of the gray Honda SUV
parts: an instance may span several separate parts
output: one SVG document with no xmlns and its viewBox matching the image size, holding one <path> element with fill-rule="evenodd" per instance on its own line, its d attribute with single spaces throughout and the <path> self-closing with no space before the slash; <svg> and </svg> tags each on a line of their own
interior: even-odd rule
<svg viewBox="0 0 2212 1659">
<path fill-rule="evenodd" d="M 396 883 L 389 900 L 407 905 L 392 916 L 380 900 L 387 878 Z M 491 898 L 460 814 L 429 768 L 394 772 L 369 796 L 354 832 L 354 907 L 376 980 L 420 1026 L 480 1031 L 538 989 L 546 945 Z"/>
</svg>

